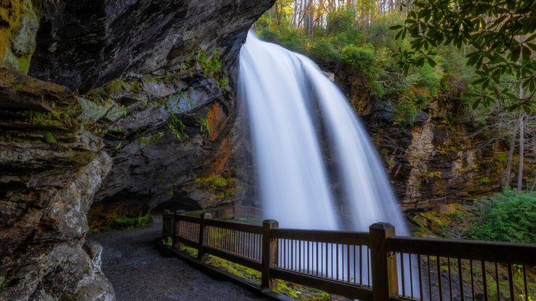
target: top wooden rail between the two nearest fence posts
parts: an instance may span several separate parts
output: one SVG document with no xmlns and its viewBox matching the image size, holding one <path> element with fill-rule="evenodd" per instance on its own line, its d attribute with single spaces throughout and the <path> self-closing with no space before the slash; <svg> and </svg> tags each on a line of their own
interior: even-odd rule
<svg viewBox="0 0 536 301">
<path fill-rule="evenodd" d="M 293 239 L 296 241 L 317 241 L 319 243 L 339 243 L 344 245 L 368 245 L 367 232 L 274 229 L 273 238 Z"/>
</svg>

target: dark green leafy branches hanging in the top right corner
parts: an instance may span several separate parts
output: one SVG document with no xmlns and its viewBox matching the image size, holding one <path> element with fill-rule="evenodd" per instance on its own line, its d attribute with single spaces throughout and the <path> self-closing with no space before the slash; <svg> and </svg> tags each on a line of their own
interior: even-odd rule
<svg viewBox="0 0 536 301">
<path fill-rule="evenodd" d="M 403 5 L 401 5 L 401 10 Z M 473 84 L 482 85 L 473 108 L 497 102 L 503 109 L 530 113 L 536 91 L 536 4 L 531 0 L 415 0 L 397 39 L 410 37 L 411 51 L 401 51 L 399 65 L 436 65 L 440 45 L 467 46 L 467 65 L 476 69 Z M 524 38 L 522 38 L 524 37 Z M 504 78 L 516 78 L 524 96 L 501 89 Z"/>
</svg>

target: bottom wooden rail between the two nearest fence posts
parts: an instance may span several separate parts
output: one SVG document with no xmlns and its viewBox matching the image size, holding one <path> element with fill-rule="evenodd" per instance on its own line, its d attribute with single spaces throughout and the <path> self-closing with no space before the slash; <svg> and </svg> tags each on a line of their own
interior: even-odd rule
<svg viewBox="0 0 536 301">
<path fill-rule="evenodd" d="M 322 278 L 321 276 L 302 274 L 295 271 L 280 269 L 278 267 L 270 269 L 270 274 L 274 278 L 294 282 L 298 285 L 305 285 L 306 287 L 313 287 L 315 289 L 327 291 L 328 293 L 335 293 L 346 298 L 372 301 L 372 289 L 364 285 L 354 285 L 353 283 L 335 281 Z"/>
</svg>

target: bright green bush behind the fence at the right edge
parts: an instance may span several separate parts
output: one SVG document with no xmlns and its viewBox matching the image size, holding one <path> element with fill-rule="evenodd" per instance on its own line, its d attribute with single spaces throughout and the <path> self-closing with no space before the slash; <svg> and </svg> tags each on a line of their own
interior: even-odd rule
<svg viewBox="0 0 536 301">
<path fill-rule="evenodd" d="M 517 193 L 511 188 L 480 199 L 482 219 L 471 238 L 483 241 L 536 243 L 536 192 Z"/>
</svg>

